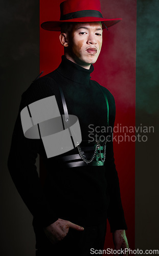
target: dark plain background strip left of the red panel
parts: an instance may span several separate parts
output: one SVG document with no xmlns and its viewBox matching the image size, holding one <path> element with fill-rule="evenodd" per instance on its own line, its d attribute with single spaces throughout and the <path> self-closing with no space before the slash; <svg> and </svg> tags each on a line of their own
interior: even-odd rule
<svg viewBox="0 0 159 256">
<path fill-rule="evenodd" d="M 35 255 L 32 216 L 7 168 L 21 94 L 39 74 L 39 1 L 1 1 L 1 179 L 0 253 Z"/>
</svg>

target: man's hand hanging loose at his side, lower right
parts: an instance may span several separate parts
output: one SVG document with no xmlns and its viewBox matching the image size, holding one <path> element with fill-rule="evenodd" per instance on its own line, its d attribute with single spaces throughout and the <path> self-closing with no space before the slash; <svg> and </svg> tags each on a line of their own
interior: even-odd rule
<svg viewBox="0 0 159 256">
<path fill-rule="evenodd" d="M 113 238 L 113 243 L 115 245 L 115 250 L 118 251 L 120 249 L 124 250 L 125 248 L 129 248 L 125 230 L 123 230 L 123 229 L 116 230 L 115 232 L 112 233 L 112 238 Z M 126 252 L 126 255 L 127 254 L 128 254 L 128 252 Z"/>
</svg>

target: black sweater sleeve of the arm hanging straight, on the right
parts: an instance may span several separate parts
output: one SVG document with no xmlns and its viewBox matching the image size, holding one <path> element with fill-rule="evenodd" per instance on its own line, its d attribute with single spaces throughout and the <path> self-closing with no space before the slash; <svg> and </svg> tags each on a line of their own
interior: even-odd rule
<svg viewBox="0 0 159 256">
<path fill-rule="evenodd" d="M 109 135 L 110 140 L 106 145 L 106 160 L 105 160 L 105 168 L 106 168 L 106 180 L 108 184 L 108 193 L 109 193 L 109 206 L 107 212 L 107 218 L 110 224 L 110 231 L 113 232 L 117 229 L 127 229 L 127 225 L 124 218 L 124 211 L 121 202 L 120 196 L 120 186 L 119 186 L 119 178 L 116 170 L 115 159 L 113 154 L 113 126 L 115 123 L 115 115 L 116 115 L 116 105 L 115 99 L 113 96 L 108 93 L 108 102 L 109 102 Z"/>
</svg>

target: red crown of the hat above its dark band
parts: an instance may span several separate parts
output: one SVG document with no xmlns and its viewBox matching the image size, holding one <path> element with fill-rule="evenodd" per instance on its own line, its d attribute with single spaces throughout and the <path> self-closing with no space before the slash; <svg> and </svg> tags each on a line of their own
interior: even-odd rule
<svg viewBox="0 0 159 256">
<path fill-rule="evenodd" d="M 95 10 L 101 13 L 100 0 L 66 0 L 60 4 L 61 17 L 85 10 Z"/>
</svg>

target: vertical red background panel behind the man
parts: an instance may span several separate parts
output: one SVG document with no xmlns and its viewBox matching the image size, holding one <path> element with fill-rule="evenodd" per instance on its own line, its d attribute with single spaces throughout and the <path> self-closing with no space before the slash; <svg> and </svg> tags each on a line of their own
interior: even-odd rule
<svg viewBox="0 0 159 256">
<path fill-rule="evenodd" d="M 61 0 L 40 0 L 40 24 L 47 20 L 59 19 L 61 2 Z M 123 18 L 122 22 L 110 27 L 108 31 L 104 29 L 103 46 L 94 65 L 92 79 L 106 87 L 116 100 L 115 162 L 128 226 L 126 233 L 129 248 L 134 249 L 135 132 L 132 131 L 131 126 L 135 126 L 137 0 L 101 0 L 101 7 L 103 17 Z M 63 47 L 59 42 L 59 34 L 60 32 L 40 29 L 40 72 L 44 71 L 43 74 L 53 71 L 61 61 Z M 123 126 L 128 127 L 128 132 L 120 131 L 123 130 Z M 118 139 L 122 140 L 125 135 L 126 140 L 119 143 Z M 108 225 L 105 249 L 113 248 L 109 230 Z"/>
</svg>

